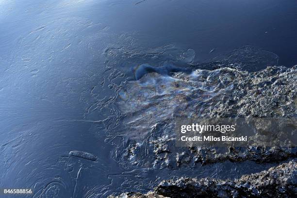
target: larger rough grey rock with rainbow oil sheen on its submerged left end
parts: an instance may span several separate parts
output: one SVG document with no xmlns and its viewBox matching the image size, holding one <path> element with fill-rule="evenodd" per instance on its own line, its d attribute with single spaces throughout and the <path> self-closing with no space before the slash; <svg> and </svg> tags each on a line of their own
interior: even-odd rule
<svg viewBox="0 0 297 198">
<path fill-rule="evenodd" d="M 123 153 L 131 163 L 153 160 L 146 164 L 155 168 L 193 167 L 227 160 L 269 163 L 297 157 L 297 148 L 177 148 L 173 133 L 174 115 L 296 117 L 296 87 L 297 66 L 272 66 L 255 72 L 221 67 L 196 69 L 192 74 L 175 72 L 171 76 L 146 74 L 122 90 L 127 96 L 119 101 L 127 123 L 125 135 L 135 141 L 133 144 L 139 143 Z M 153 157 L 144 157 L 144 152 Z M 129 160 L 125 163 L 129 164 Z"/>
</svg>

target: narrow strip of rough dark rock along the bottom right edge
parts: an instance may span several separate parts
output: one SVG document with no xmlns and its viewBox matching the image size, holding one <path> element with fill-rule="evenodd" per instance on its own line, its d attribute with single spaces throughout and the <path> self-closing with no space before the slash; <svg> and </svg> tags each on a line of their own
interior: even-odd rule
<svg viewBox="0 0 297 198">
<path fill-rule="evenodd" d="M 162 181 L 148 194 L 124 193 L 110 198 L 293 198 L 297 193 L 297 163 L 292 160 L 238 180 L 180 178 Z"/>
</svg>

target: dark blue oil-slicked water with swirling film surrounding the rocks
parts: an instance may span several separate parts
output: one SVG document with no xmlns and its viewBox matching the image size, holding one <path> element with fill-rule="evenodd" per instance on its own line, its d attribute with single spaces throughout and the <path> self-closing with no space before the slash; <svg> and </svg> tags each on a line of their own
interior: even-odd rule
<svg viewBox="0 0 297 198">
<path fill-rule="evenodd" d="M 279 65 L 297 64 L 296 0 L 137 2 L 0 0 L 0 188 L 99 198 L 189 176 L 193 170 L 118 159 L 129 138 L 116 100 L 130 68 L 211 62 L 246 45 L 276 54 Z M 195 171 L 224 179 L 270 166 L 226 162 Z"/>
</svg>

